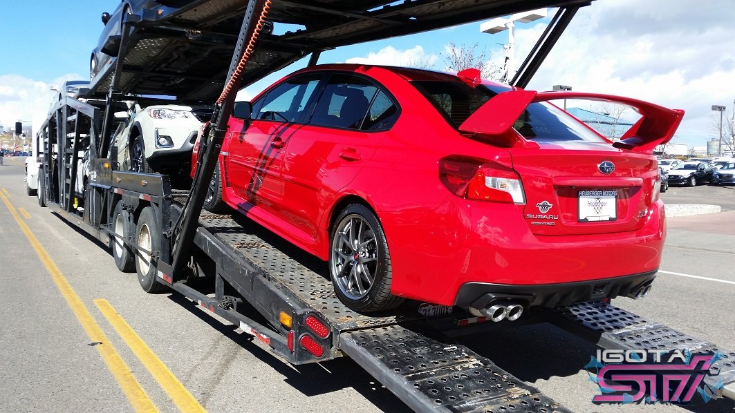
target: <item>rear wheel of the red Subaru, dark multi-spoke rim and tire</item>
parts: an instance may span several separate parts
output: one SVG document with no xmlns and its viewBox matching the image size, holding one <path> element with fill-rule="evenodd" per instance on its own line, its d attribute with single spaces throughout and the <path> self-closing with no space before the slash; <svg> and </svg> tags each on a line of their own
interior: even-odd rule
<svg viewBox="0 0 735 413">
<path fill-rule="evenodd" d="M 373 211 L 351 204 L 334 222 L 329 237 L 329 272 L 340 301 L 359 313 L 390 310 L 401 304 L 404 299 L 390 293 L 390 251 Z"/>
</svg>

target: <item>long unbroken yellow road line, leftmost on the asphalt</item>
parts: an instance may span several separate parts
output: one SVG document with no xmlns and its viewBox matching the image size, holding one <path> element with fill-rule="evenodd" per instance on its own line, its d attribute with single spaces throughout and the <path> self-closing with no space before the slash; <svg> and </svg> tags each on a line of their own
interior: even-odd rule
<svg viewBox="0 0 735 413">
<path fill-rule="evenodd" d="M 54 279 L 57 288 L 61 291 L 67 304 L 71 307 L 71 310 L 74 312 L 74 315 L 76 315 L 79 323 L 84 327 L 85 332 L 87 332 L 87 336 L 90 337 L 90 340 L 92 340 L 93 343 L 102 343 L 100 346 L 95 347 L 99 351 L 99 354 L 107 365 L 107 368 L 110 369 L 112 376 L 114 376 L 115 380 L 120 384 L 121 389 L 130 401 L 130 404 L 132 404 L 133 409 L 135 409 L 136 412 L 158 412 L 156 405 L 150 398 L 148 398 L 146 391 L 143 390 L 140 383 L 138 383 L 132 373 L 130 373 L 128 366 L 123 362 L 123 359 L 121 359 L 120 355 L 115 350 L 115 347 L 112 346 L 110 340 L 107 340 L 107 336 L 94 321 L 94 318 L 89 311 L 87 311 L 87 307 L 85 307 L 82 299 L 79 299 L 79 296 L 76 295 L 73 288 L 71 288 L 71 285 L 69 285 L 69 282 L 63 274 L 61 274 L 61 271 L 56 264 L 54 264 L 54 261 L 51 260 L 49 253 L 46 252 L 46 249 L 43 249 L 43 246 L 38 242 L 28 225 L 26 225 L 21 217 L 18 216 L 18 213 L 15 212 L 15 208 L 12 207 L 10 201 L 7 200 L 7 197 L 0 193 L 0 198 L 5 203 L 5 206 L 7 206 L 7 209 L 10 210 L 12 217 L 15 218 L 15 222 L 18 222 L 18 226 L 21 227 L 21 230 L 23 230 L 26 238 L 28 238 L 28 241 L 31 243 L 31 246 L 35 249 L 35 252 L 43 263 L 43 266 L 46 267 L 46 271 L 49 271 L 49 274 L 51 274 L 51 278 Z"/>
</svg>

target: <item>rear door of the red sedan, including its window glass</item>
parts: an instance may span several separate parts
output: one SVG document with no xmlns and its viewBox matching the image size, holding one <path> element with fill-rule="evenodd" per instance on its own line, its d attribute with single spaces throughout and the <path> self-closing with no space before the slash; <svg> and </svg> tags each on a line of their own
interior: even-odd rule
<svg viewBox="0 0 735 413">
<path fill-rule="evenodd" d="M 397 115 L 392 99 L 365 78 L 327 81 L 309 124 L 290 136 L 282 164 L 282 213 L 304 241 L 318 238 L 334 194 L 365 167 Z"/>
</svg>

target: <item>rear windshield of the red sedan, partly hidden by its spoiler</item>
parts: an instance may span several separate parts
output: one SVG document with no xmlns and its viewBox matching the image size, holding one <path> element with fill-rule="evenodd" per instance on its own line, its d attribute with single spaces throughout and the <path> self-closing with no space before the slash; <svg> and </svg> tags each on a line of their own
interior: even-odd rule
<svg viewBox="0 0 735 413">
<path fill-rule="evenodd" d="M 473 88 L 450 76 L 446 81 L 412 81 L 412 84 L 454 128 L 459 128 L 487 100 L 510 90 L 485 85 Z M 548 103 L 528 105 L 514 124 L 514 129 L 524 138 L 534 141 L 606 142 L 578 120 Z"/>
</svg>

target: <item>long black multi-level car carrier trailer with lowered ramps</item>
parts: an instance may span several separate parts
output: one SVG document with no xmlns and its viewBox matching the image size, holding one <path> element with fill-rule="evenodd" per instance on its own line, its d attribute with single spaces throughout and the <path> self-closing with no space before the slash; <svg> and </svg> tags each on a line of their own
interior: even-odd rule
<svg viewBox="0 0 735 413">
<path fill-rule="evenodd" d="M 132 270 L 134 260 L 144 266 L 139 280 L 146 291 L 170 288 L 181 293 L 293 364 L 351 357 L 417 411 L 565 412 L 561 404 L 452 338 L 502 328 L 507 321 L 486 322 L 459 308 L 413 301 L 390 314 L 355 313 L 337 299 L 319 260 L 239 213 L 201 211 L 238 85 L 251 84 L 308 54 L 314 64 L 320 51 L 340 45 L 560 7 L 512 81 L 523 87 L 576 10 L 589 1 L 364 3 L 356 9 L 350 1 L 209 0 L 190 1 L 168 21 L 151 23 L 132 15 L 116 40 L 118 56 L 95 78 L 90 93 L 60 100 L 40 128 L 39 203 L 110 246 L 121 270 Z M 306 29 L 270 36 L 264 18 L 300 22 Z M 207 22 L 212 19 L 236 21 L 239 32 L 210 32 Z M 217 78 L 202 85 L 201 75 L 195 74 L 204 70 L 200 60 L 173 64 L 162 48 L 173 53 L 177 45 L 191 45 L 201 53 L 207 48 L 212 61 L 221 61 L 224 51 L 232 54 L 229 68 L 207 69 L 207 76 L 221 73 L 228 84 Z M 172 92 L 167 84 L 179 89 Z M 190 191 L 172 189 L 166 175 L 117 170 L 110 136 L 114 112 L 126 95 L 194 94 L 214 100 L 215 89 L 224 92 L 205 131 Z M 90 172 L 79 193 L 76 169 L 80 151 L 87 148 Z M 718 374 L 706 382 L 716 389 L 712 397 L 735 398 L 735 353 L 612 304 L 538 309 L 524 319 L 519 322 L 551 323 L 602 348 L 719 351 L 723 358 L 712 369 Z"/>
</svg>

